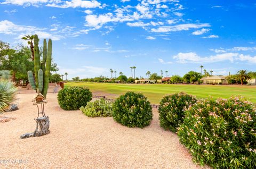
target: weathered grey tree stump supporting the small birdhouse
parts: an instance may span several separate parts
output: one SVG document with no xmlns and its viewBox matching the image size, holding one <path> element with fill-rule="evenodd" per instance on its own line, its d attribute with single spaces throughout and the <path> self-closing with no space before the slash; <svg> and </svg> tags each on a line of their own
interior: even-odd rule
<svg viewBox="0 0 256 169">
<path fill-rule="evenodd" d="M 50 121 L 48 116 L 39 117 L 35 119 L 35 121 L 36 121 L 36 130 L 33 133 L 22 134 L 20 136 L 21 139 L 25 139 L 29 137 L 40 137 L 50 133 L 50 130 L 49 130 Z"/>
</svg>

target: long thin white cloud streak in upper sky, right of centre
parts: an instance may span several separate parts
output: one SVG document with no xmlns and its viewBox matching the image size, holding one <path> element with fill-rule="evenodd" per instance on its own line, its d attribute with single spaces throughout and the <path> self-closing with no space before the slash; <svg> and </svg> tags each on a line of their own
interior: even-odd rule
<svg viewBox="0 0 256 169">
<path fill-rule="evenodd" d="M 176 26 L 164 26 L 159 28 L 151 29 L 152 32 L 171 32 L 171 31 L 182 31 L 189 29 L 198 29 L 204 27 L 211 27 L 209 23 L 186 23 L 186 24 L 178 24 Z"/>
</svg>

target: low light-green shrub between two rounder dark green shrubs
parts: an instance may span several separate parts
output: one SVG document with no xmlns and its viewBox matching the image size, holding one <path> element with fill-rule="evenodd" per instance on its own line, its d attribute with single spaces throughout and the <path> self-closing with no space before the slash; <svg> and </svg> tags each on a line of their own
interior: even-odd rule
<svg viewBox="0 0 256 169">
<path fill-rule="evenodd" d="M 82 106 L 80 110 L 89 117 L 98 117 L 98 116 L 112 116 L 112 102 L 109 102 L 105 99 L 95 100 L 94 102 L 89 102 L 84 107 Z"/>
</svg>

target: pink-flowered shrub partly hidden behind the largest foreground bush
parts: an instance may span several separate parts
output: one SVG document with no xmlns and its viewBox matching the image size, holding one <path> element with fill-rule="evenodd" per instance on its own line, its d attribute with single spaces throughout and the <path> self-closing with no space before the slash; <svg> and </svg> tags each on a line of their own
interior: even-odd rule
<svg viewBox="0 0 256 169">
<path fill-rule="evenodd" d="M 196 101 L 194 96 L 185 92 L 163 97 L 158 108 L 160 126 L 164 130 L 176 132 L 177 128 L 183 123 L 185 108 L 195 104 Z"/>
</svg>

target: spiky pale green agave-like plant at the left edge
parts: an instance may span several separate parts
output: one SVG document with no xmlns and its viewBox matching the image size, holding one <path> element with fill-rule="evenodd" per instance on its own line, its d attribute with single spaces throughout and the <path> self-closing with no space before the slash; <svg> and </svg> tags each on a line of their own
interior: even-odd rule
<svg viewBox="0 0 256 169">
<path fill-rule="evenodd" d="M 0 81 L 0 113 L 10 109 L 11 104 L 15 99 L 17 87 L 11 81 Z"/>
</svg>

